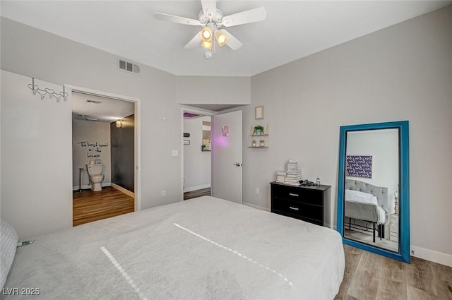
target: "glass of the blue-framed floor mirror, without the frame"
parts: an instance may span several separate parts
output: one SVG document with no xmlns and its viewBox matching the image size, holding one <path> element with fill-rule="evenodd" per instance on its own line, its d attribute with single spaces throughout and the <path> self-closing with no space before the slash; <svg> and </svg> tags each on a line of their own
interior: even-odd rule
<svg viewBox="0 0 452 300">
<path fill-rule="evenodd" d="M 347 132 L 344 236 L 398 253 L 398 130 Z"/>
</svg>

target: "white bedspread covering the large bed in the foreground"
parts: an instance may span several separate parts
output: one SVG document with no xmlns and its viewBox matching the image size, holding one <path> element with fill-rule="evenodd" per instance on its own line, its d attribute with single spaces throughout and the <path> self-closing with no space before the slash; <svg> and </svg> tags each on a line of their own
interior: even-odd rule
<svg viewBox="0 0 452 300">
<path fill-rule="evenodd" d="M 212 197 L 38 236 L 1 299 L 333 299 L 338 232 Z"/>
</svg>

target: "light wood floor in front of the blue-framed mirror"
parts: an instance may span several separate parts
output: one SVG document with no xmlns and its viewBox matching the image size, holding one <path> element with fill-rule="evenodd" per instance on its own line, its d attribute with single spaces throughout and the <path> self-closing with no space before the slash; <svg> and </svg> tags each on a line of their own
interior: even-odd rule
<svg viewBox="0 0 452 300">
<path fill-rule="evenodd" d="M 401 263 L 344 245 L 345 273 L 335 300 L 452 299 L 452 268 L 411 257 Z"/>
</svg>

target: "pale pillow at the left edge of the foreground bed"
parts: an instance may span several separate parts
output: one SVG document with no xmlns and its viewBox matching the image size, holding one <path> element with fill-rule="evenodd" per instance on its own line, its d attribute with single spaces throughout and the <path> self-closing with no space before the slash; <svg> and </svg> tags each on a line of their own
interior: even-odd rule
<svg viewBox="0 0 452 300">
<path fill-rule="evenodd" d="M 18 236 L 16 230 L 11 227 L 8 222 L 1 219 L 0 220 L 0 280 L 1 280 L 1 288 L 6 281 L 6 277 L 8 276 L 9 269 L 14 260 L 14 256 L 16 255 L 16 247 L 18 242 Z"/>
</svg>

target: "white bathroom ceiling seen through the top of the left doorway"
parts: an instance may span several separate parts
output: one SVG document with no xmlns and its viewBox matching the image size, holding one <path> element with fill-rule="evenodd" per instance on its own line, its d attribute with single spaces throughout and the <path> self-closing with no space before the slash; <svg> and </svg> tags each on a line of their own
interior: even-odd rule
<svg viewBox="0 0 452 300">
<path fill-rule="evenodd" d="M 86 100 L 100 103 L 87 102 Z M 112 123 L 125 116 L 130 116 L 134 112 L 135 104 L 133 102 L 72 92 L 73 120 Z"/>
</svg>

